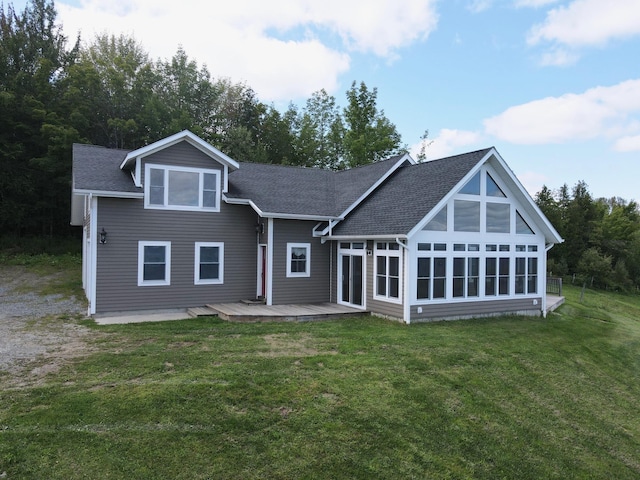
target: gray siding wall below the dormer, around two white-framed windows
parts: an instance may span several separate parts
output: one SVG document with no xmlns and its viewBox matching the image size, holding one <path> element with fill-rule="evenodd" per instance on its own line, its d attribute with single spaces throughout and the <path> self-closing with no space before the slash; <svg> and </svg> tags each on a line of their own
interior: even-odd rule
<svg viewBox="0 0 640 480">
<path fill-rule="evenodd" d="M 99 198 L 96 311 L 183 308 L 256 294 L 256 215 L 248 206 L 221 211 L 145 210 L 142 199 Z M 171 242 L 171 285 L 138 287 L 138 241 Z M 194 285 L 195 242 L 224 242 L 224 284 Z"/>
</svg>

